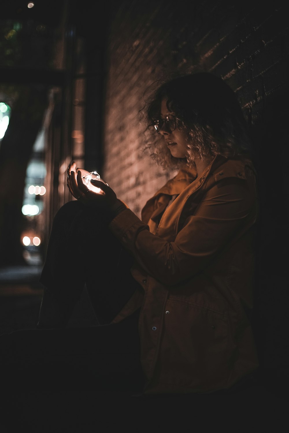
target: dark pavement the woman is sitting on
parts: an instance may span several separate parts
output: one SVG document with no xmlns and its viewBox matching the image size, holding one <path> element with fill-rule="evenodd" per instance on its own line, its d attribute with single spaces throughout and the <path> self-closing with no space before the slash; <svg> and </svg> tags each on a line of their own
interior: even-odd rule
<svg viewBox="0 0 289 433">
<path fill-rule="evenodd" d="M 41 265 L 0 269 L 0 334 L 35 328 L 43 290 L 41 269 Z M 94 324 L 96 317 L 84 291 L 69 326 Z M 231 393 L 151 397 L 100 393 L 89 380 L 69 393 L 45 394 L 39 377 L 39 389 L 0 391 L 0 433 L 102 433 L 116 428 L 125 432 L 288 432 L 287 388 L 280 378 L 275 383 L 274 375 L 270 373 L 270 380 L 257 375 Z"/>
</svg>

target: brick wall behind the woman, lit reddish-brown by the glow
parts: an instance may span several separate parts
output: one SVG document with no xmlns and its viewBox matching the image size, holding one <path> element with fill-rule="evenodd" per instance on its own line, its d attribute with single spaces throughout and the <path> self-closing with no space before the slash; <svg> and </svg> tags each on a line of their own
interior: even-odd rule
<svg viewBox="0 0 289 433">
<path fill-rule="evenodd" d="M 142 153 L 144 90 L 171 73 L 209 71 L 236 92 L 251 126 L 288 86 L 283 2 L 112 2 L 103 178 L 139 214 L 174 172 Z"/>
</svg>

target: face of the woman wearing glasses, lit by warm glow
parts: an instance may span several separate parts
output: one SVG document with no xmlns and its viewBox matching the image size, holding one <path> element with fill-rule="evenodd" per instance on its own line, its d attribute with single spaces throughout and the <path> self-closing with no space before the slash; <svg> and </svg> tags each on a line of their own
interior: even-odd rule
<svg viewBox="0 0 289 433">
<path fill-rule="evenodd" d="M 164 119 L 168 114 L 173 114 L 167 109 L 167 98 L 164 98 L 161 103 L 161 117 Z M 187 133 L 180 131 L 178 127 L 174 131 L 170 131 L 164 122 L 160 128 L 161 135 L 164 137 L 170 153 L 175 158 L 186 158 L 187 156 Z"/>
</svg>

